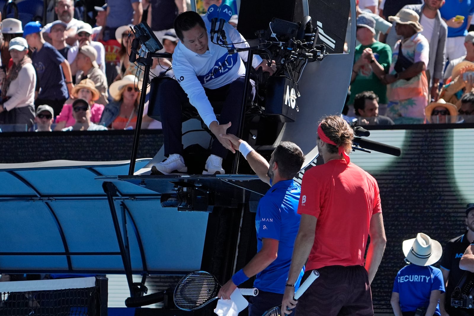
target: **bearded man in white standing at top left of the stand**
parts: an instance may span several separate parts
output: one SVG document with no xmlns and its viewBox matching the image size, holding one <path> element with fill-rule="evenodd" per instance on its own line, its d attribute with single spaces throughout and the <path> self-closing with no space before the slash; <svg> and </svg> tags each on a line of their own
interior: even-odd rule
<svg viewBox="0 0 474 316">
<path fill-rule="evenodd" d="M 66 43 L 68 45 L 75 45 L 76 42 L 76 32 L 77 28 L 83 22 L 74 18 L 74 1 L 73 0 L 55 0 L 55 13 L 58 16 L 58 19 L 66 23 Z M 49 37 L 49 31 L 52 23 L 46 24 L 43 27 L 43 37 L 48 43 L 51 43 L 51 38 Z"/>
</svg>

